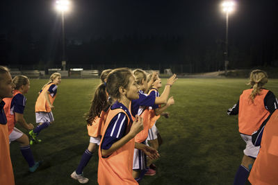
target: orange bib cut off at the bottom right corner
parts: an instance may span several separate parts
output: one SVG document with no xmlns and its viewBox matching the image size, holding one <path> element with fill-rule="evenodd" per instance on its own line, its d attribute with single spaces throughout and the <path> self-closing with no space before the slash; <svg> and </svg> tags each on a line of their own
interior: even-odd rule
<svg viewBox="0 0 278 185">
<path fill-rule="evenodd" d="M 265 125 L 261 149 L 254 162 L 249 181 L 251 184 L 278 184 L 278 109 Z"/>
</svg>

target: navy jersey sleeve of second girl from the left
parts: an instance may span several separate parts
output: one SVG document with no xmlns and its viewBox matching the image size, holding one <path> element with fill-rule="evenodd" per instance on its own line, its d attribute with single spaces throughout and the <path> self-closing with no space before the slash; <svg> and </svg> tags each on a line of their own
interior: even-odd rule
<svg viewBox="0 0 278 185">
<path fill-rule="evenodd" d="M 17 94 L 13 97 L 12 102 L 10 103 L 10 114 L 13 115 L 13 112 L 23 114 L 26 105 L 26 98 L 23 94 Z"/>
</svg>

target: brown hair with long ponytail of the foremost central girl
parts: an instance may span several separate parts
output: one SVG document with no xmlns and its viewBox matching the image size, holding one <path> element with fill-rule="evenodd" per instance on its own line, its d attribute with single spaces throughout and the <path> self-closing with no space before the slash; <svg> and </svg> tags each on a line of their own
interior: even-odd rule
<svg viewBox="0 0 278 185">
<path fill-rule="evenodd" d="M 119 68 L 111 71 L 107 77 L 106 85 L 101 83 L 96 91 L 94 98 L 91 101 L 91 107 L 85 118 L 88 125 L 92 125 L 92 121 L 97 116 L 100 116 L 101 111 L 106 109 L 110 103 L 107 100 L 106 91 L 109 96 L 114 100 L 120 98 L 120 87 L 127 88 L 129 85 L 129 77 L 132 76 L 132 72 L 128 68 Z"/>
</svg>

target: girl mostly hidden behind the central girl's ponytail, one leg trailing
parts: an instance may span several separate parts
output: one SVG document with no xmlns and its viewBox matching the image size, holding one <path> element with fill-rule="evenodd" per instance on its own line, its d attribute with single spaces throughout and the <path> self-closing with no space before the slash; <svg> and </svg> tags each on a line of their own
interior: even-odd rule
<svg viewBox="0 0 278 185">
<path fill-rule="evenodd" d="M 101 72 L 101 82 L 102 82 L 102 86 L 106 85 L 106 81 L 107 81 L 107 76 L 108 74 L 112 71 L 112 69 L 106 69 L 104 71 Z M 98 88 L 97 88 L 98 89 Z M 104 88 L 105 89 L 105 88 Z M 87 121 L 87 128 L 88 128 L 88 134 L 90 136 L 90 143 L 89 146 L 87 148 L 87 150 L 85 150 L 85 152 L 83 153 L 82 157 L 81 157 L 81 161 L 79 162 L 79 166 L 77 166 L 76 170 L 70 175 L 73 179 L 78 180 L 78 182 L 80 182 L 81 184 L 85 184 L 89 181 L 88 178 L 83 177 L 83 169 L 85 168 L 85 166 L 87 166 L 88 162 L 90 161 L 92 154 L 97 150 L 97 146 L 99 146 L 99 142 L 101 140 L 101 130 L 103 129 L 104 126 L 104 115 L 106 114 L 106 111 L 108 109 L 108 107 L 110 106 L 110 104 L 108 103 L 108 95 L 106 95 L 106 101 L 104 101 L 104 105 L 99 107 L 99 109 L 102 110 L 100 115 L 94 115 L 93 110 L 95 109 L 92 108 L 92 105 L 94 105 L 94 99 L 92 99 L 91 102 L 91 108 L 90 111 L 88 112 L 88 114 L 86 114 L 85 118 Z"/>
</svg>

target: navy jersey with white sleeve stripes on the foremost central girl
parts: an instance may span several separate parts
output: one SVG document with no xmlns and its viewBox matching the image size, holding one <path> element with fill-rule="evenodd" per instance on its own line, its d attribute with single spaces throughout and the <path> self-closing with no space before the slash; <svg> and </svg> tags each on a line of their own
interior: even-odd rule
<svg viewBox="0 0 278 185">
<path fill-rule="evenodd" d="M 124 109 L 127 115 L 129 115 L 130 121 L 132 121 L 129 109 L 127 109 L 122 103 L 116 102 L 112 105 L 111 109 Z M 104 134 L 104 139 L 101 144 L 101 149 L 108 150 L 111 148 L 113 143 L 122 139 L 126 135 L 126 126 L 128 125 L 129 119 L 126 114 L 120 112 L 109 123 L 107 130 Z"/>
</svg>

